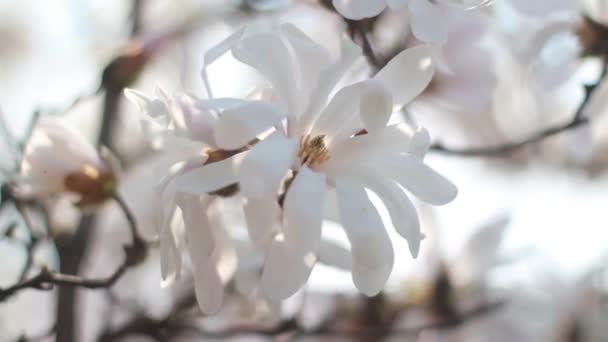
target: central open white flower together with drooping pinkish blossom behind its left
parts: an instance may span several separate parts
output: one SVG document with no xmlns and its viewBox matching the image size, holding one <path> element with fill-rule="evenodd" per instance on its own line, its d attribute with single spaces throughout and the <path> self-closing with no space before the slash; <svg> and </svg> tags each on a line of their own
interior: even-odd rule
<svg viewBox="0 0 608 342">
<path fill-rule="evenodd" d="M 388 210 L 391 225 L 415 257 L 423 234 L 407 192 L 434 205 L 452 201 L 457 193 L 423 161 L 428 132 L 388 124 L 394 109 L 431 81 L 431 50 L 406 49 L 374 77 L 350 84 L 347 74 L 362 54 L 346 37 L 335 59 L 293 25 L 247 27 L 210 50 L 205 68 L 228 52 L 268 83 L 245 99 L 162 94 L 152 99 L 127 91 L 145 115 L 162 122 L 164 136 L 206 146 L 176 165 L 159 187 L 163 277 L 172 280 L 181 268 L 183 236 L 171 225 L 177 205 L 188 244 L 200 242 L 189 248 L 199 274 L 195 280 L 204 283 L 197 291 L 199 303 L 206 312 L 219 308 L 218 296 L 209 297 L 209 289 L 215 293 L 221 282 L 205 208 L 238 193 L 249 237 L 264 255 L 260 291 L 273 302 L 284 300 L 327 253 L 322 226 L 334 195 L 350 244 L 353 282 L 362 293 L 376 295 L 394 262 L 377 206 Z M 205 69 L 203 77 L 209 84 Z M 380 202 L 372 201 L 370 192 Z M 192 206 L 198 209 L 188 209 Z"/>
</svg>

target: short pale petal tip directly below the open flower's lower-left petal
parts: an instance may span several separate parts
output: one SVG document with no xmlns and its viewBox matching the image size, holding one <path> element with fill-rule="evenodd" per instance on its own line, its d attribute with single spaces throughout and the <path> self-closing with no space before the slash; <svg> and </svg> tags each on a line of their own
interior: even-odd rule
<svg viewBox="0 0 608 342">
<path fill-rule="evenodd" d="M 279 232 L 279 204 L 276 196 L 248 198 L 243 205 L 249 238 L 253 243 L 265 247 Z"/>
</svg>

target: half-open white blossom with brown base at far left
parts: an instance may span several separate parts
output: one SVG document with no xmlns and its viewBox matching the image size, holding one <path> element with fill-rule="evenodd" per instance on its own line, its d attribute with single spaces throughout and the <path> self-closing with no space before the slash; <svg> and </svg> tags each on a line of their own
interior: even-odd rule
<svg viewBox="0 0 608 342">
<path fill-rule="evenodd" d="M 99 204 L 116 188 L 117 162 L 99 153 L 59 119 L 42 117 L 30 137 L 18 179 L 23 196 L 70 194 L 79 205 Z"/>
</svg>

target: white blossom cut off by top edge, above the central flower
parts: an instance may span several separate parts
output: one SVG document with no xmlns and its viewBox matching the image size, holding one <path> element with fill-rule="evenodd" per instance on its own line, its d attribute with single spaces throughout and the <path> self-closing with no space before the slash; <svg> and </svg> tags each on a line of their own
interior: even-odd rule
<svg viewBox="0 0 608 342">
<path fill-rule="evenodd" d="M 447 7 L 474 8 L 488 0 L 333 0 L 336 10 L 348 19 L 375 17 L 387 6 L 393 10 L 407 8 L 414 36 L 420 41 L 443 44 L 448 39 L 445 21 Z"/>
</svg>

